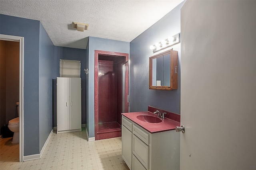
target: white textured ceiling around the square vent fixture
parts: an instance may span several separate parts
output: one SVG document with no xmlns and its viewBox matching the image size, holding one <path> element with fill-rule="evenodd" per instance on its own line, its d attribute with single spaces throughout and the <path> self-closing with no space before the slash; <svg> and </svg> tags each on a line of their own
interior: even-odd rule
<svg viewBox="0 0 256 170">
<path fill-rule="evenodd" d="M 130 42 L 183 0 L 0 0 L 0 13 L 41 21 L 52 43 L 85 49 L 86 37 Z M 73 29 L 72 22 L 89 24 Z"/>
</svg>

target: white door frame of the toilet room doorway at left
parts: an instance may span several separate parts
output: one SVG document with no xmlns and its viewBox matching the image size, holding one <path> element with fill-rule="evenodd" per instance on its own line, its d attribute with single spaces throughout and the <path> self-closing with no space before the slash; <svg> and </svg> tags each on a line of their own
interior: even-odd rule
<svg viewBox="0 0 256 170">
<path fill-rule="evenodd" d="M 23 105 L 23 94 L 24 94 L 24 37 L 4 35 L 0 34 L 0 40 L 3 41 L 15 41 L 20 43 L 19 49 L 19 108 L 20 108 L 20 132 L 19 132 L 19 161 L 24 161 L 24 105 Z"/>
</svg>

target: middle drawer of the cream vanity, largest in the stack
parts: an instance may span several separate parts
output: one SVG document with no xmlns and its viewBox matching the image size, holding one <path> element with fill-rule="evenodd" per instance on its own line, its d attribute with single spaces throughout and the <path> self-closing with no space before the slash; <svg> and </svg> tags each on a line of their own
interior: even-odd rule
<svg viewBox="0 0 256 170">
<path fill-rule="evenodd" d="M 140 163 L 148 169 L 148 145 L 142 142 L 136 135 L 132 135 L 132 153 Z"/>
</svg>

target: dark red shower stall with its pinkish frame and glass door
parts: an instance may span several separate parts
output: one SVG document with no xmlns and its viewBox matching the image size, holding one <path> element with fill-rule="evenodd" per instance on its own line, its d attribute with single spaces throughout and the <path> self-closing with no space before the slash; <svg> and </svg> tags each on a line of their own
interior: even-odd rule
<svg viewBox="0 0 256 170">
<path fill-rule="evenodd" d="M 128 54 L 100 52 L 95 53 L 95 140 L 120 137 L 121 113 L 129 107 Z"/>
</svg>

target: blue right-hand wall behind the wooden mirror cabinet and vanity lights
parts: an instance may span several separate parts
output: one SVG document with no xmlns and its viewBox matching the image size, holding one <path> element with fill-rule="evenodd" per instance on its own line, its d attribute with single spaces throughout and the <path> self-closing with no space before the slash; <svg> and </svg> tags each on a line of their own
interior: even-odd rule
<svg viewBox="0 0 256 170">
<path fill-rule="evenodd" d="M 180 9 L 184 2 L 130 42 L 130 112 L 147 111 L 154 106 L 180 114 L 180 43 L 178 51 L 178 90 L 149 90 L 149 48 L 157 42 L 180 33 Z M 162 52 L 162 51 L 160 51 Z"/>
</svg>

